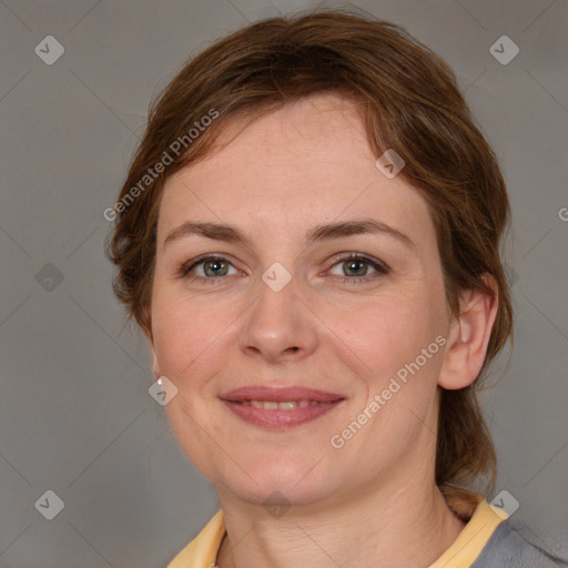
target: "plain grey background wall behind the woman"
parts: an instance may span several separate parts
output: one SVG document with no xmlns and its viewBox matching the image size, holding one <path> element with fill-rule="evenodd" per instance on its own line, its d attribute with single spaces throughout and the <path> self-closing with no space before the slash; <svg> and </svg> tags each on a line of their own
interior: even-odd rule
<svg viewBox="0 0 568 568">
<path fill-rule="evenodd" d="M 149 102 L 190 55 L 248 21 L 315 6 L 0 3 L 1 567 L 165 566 L 216 510 L 212 485 L 148 394 L 144 341 L 121 333 L 102 212 L 118 196 Z M 510 365 L 499 358 L 501 378 L 484 395 L 497 491 L 520 503 L 515 517 L 535 538 L 566 535 L 568 4 L 356 6 L 403 24 L 450 63 L 499 156 L 514 212 L 504 252 L 517 320 Z M 34 53 L 48 34 L 65 49 L 53 65 Z M 503 34 L 520 48 L 507 65 L 489 53 Z M 64 501 L 53 520 L 34 507 L 48 489 Z"/>
</svg>

